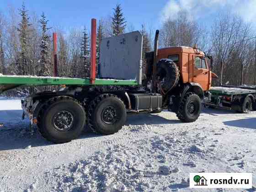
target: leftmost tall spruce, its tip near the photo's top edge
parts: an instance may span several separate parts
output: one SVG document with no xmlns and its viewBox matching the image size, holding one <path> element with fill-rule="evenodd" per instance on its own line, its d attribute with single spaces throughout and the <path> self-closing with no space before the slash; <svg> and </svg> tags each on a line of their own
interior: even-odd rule
<svg viewBox="0 0 256 192">
<path fill-rule="evenodd" d="M 28 75 L 29 73 L 29 59 L 28 59 L 28 46 L 29 46 L 29 17 L 27 16 L 27 10 L 24 5 L 20 9 L 21 22 L 19 23 L 19 27 L 17 28 L 19 32 L 20 38 L 20 56 L 17 64 L 17 74 L 18 75 Z"/>
</svg>

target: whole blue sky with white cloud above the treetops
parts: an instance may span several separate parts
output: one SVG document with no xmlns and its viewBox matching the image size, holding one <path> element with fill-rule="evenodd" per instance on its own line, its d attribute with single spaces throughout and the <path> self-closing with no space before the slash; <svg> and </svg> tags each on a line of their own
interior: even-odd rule
<svg viewBox="0 0 256 192">
<path fill-rule="evenodd" d="M 221 12 L 239 15 L 245 21 L 255 22 L 256 18 L 256 0 L 0 0 L 0 11 L 7 11 L 10 5 L 19 8 L 23 1 L 30 12 L 41 15 L 44 11 L 50 26 L 64 29 L 89 28 L 91 18 L 112 15 L 117 3 L 123 7 L 128 27 L 132 24 L 135 30 L 143 23 L 147 28 L 160 28 L 162 21 L 175 18 L 180 10 L 187 10 L 192 20 L 209 26 Z"/>
</svg>

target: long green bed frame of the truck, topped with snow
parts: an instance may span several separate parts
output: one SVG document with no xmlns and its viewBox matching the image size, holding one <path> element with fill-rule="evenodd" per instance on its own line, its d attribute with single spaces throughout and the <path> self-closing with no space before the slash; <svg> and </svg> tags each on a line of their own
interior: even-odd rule
<svg viewBox="0 0 256 192">
<path fill-rule="evenodd" d="M 68 77 L 38 77 L 22 75 L 0 75 L 0 93 L 17 87 L 27 86 L 47 86 L 47 85 L 68 85 L 68 86 L 88 86 L 88 85 L 139 85 L 136 80 L 114 80 L 96 79 L 92 84 L 90 79 L 68 78 Z"/>
</svg>

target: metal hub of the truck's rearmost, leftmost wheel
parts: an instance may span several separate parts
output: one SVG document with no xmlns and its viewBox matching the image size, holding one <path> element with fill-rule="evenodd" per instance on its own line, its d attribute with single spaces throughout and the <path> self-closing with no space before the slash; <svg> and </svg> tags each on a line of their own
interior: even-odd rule
<svg viewBox="0 0 256 192">
<path fill-rule="evenodd" d="M 57 131 L 68 131 L 72 127 L 73 121 L 74 117 L 70 112 L 61 111 L 53 117 L 53 127 Z"/>
</svg>

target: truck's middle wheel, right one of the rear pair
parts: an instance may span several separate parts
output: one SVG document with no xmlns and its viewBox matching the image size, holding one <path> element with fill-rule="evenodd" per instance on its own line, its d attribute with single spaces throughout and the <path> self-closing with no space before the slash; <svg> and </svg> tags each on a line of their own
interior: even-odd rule
<svg viewBox="0 0 256 192">
<path fill-rule="evenodd" d="M 89 105 L 88 125 L 94 133 L 117 133 L 125 124 L 126 118 L 125 105 L 116 95 L 102 94 Z"/>
</svg>

